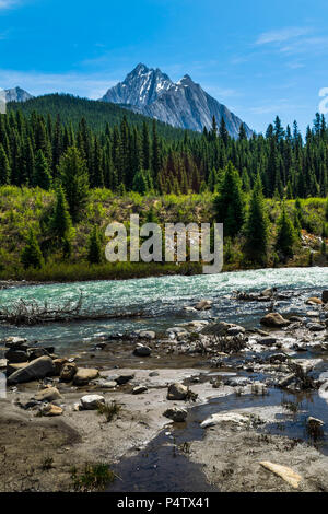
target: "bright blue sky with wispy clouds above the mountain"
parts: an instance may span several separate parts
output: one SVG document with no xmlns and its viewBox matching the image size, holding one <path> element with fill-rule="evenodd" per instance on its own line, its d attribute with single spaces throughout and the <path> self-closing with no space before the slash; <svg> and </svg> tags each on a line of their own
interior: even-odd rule
<svg viewBox="0 0 328 514">
<path fill-rule="evenodd" d="M 0 87 L 98 98 L 138 62 L 185 73 L 251 128 L 311 124 L 328 87 L 328 2 L 0 0 Z"/>
</svg>

